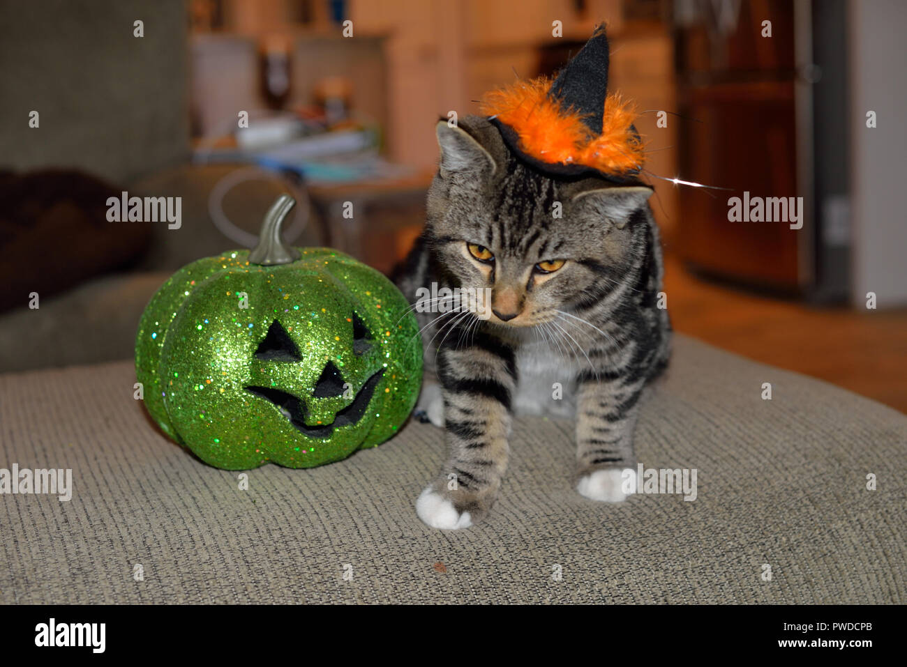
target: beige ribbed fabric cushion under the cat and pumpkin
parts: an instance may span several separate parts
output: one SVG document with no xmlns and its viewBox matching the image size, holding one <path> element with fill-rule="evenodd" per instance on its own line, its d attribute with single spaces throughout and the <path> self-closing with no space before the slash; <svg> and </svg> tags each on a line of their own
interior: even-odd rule
<svg viewBox="0 0 907 667">
<path fill-rule="evenodd" d="M 444 459 L 431 425 L 240 491 L 152 428 L 132 382 L 129 362 L 0 376 L 0 467 L 74 487 L 0 497 L 0 603 L 907 602 L 907 418 L 682 336 L 637 449 L 697 469 L 694 502 L 581 498 L 571 423 L 518 420 L 501 498 L 457 532 L 414 512 Z"/>
</svg>

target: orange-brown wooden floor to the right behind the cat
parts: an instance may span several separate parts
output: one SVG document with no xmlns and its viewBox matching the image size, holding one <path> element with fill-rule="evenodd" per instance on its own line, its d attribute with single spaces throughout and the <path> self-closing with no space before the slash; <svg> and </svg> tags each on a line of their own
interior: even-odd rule
<svg viewBox="0 0 907 667">
<path fill-rule="evenodd" d="M 674 329 L 907 412 L 907 309 L 809 306 L 717 285 L 666 259 Z"/>
</svg>

